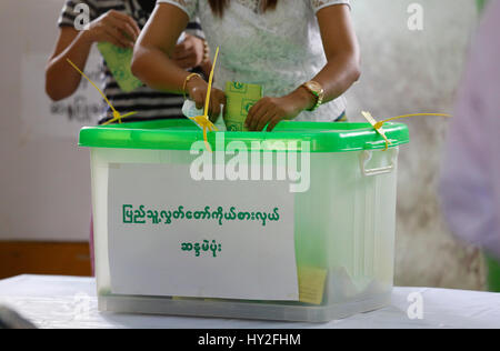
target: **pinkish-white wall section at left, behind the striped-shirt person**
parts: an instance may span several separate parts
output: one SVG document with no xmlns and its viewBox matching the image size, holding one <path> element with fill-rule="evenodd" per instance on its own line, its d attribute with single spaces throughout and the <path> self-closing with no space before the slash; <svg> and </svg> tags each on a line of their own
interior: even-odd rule
<svg viewBox="0 0 500 351">
<path fill-rule="evenodd" d="M 61 116 L 60 126 L 68 128 L 52 132 L 53 120 L 48 113 L 21 116 L 22 111 L 47 111 L 42 67 L 28 81 L 26 62 L 51 53 L 62 3 L 0 1 L 1 240 L 73 241 L 89 237 L 89 152 L 77 147 L 80 123 L 68 123 Z M 38 96 L 22 97 L 23 78 L 23 89 L 38 87 Z M 46 102 L 43 108 L 40 101 Z"/>
</svg>

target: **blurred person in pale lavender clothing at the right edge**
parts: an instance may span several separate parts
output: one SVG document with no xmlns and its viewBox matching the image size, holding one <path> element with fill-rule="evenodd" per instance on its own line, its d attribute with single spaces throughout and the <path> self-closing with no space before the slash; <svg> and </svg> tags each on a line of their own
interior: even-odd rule
<svg viewBox="0 0 500 351">
<path fill-rule="evenodd" d="M 500 260 L 500 1 L 488 6 L 471 48 L 441 174 L 451 231 Z"/>
</svg>

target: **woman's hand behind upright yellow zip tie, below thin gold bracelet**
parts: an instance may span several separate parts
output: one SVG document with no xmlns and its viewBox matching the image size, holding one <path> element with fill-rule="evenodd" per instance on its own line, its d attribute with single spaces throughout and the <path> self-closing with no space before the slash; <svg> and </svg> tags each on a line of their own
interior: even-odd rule
<svg viewBox="0 0 500 351">
<path fill-rule="evenodd" d="M 189 98 L 197 104 L 197 109 L 204 109 L 204 99 L 207 98 L 208 83 L 199 76 L 191 78 L 186 89 Z M 222 90 L 212 88 L 210 92 L 210 103 L 208 116 L 212 122 L 217 120 L 221 112 L 221 104 L 226 107 L 226 94 Z"/>
</svg>

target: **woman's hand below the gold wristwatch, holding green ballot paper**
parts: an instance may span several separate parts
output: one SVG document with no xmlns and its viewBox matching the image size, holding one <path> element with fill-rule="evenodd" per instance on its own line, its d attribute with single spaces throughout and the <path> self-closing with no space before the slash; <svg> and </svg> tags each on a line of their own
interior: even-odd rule
<svg viewBox="0 0 500 351">
<path fill-rule="evenodd" d="M 294 119 L 313 103 L 314 97 L 302 87 L 282 98 L 266 97 L 250 109 L 244 124 L 250 131 L 262 131 L 269 123 L 267 131 L 272 131 L 280 121 Z"/>
</svg>

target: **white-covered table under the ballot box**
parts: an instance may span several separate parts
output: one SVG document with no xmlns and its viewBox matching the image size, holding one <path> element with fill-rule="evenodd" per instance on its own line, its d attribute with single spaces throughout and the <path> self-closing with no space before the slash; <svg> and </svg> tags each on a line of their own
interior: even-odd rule
<svg viewBox="0 0 500 351">
<path fill-rule="evenodd" d="M 416 299 L 422 301 L 422 319 L 409 318 L 408 310 L 416 311 Z M 500 294 L 431 288 L 394 288 L 389 307 L 329 323 L 101 313 L 97 310 L 96 281 L 76 277 L 1 280 L 0 304 L 39 328 L 500 328 Z"/>
</svg>

